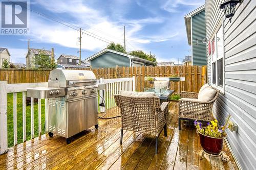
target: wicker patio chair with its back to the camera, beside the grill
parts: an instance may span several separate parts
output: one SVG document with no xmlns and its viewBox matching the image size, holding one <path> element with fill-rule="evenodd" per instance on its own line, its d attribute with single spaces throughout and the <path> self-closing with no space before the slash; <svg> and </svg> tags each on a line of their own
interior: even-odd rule
<svg viewBox="0 0 256 170">
<path fill-rule="evenodd" d="M 167 136 L 166 117 L 168 103 L 160 105 L 160 99 L 156 96 L 148 98 L 135 98 L 115 94 L 115 102 L 121 112 L 121 138 L 123 130 L 135 131 L 156 136 L 156 154 L 158 150 L 158 136 L 164 129 Z"/>
</svg>

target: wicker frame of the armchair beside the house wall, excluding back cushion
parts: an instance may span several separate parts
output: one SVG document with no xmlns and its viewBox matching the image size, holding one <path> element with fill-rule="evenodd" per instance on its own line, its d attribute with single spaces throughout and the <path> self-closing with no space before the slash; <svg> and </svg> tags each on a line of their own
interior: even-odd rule
<svg viewBox="0 0 256 170">
<path fill-rule="evenodd" d="M 211 110 L 214 106 L 220 90 L 212 87 L 217 92 L 212 100 L 209 102 L 197 101 L 198 93 L 181 91 L 181 98 L 179 101 L 179 130 L 181 130 L 181 120 L 201 120 L 202 122 L 210 122 L 212 120 Z M 186 98 L 186 99 L 184 99 Z M 193 100 L 196 99 L 196 100 Z"/>
</svg>

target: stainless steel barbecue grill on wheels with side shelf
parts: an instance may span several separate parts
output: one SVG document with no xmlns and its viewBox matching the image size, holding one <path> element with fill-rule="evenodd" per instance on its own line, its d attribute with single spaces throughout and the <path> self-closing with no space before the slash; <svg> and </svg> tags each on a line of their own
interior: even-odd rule
<svg viewBox="0 0 256 170">
<path fill-rule="evenodd" d="M 27 96 L 48 99 L 48 131 L 70 137 L 92 126 L 98 128 L 96 77 L 89 70 L 54 69 L 48 87 L 29 88 Z"/>
</svg>

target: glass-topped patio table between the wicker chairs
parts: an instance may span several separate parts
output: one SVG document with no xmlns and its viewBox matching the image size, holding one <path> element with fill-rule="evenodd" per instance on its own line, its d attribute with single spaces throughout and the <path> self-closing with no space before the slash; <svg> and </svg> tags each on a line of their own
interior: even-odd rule
<svg viewBox="0 0 256 170">
<path fill-rule="evenodd" d="M 155 89 L 155 88 L 144 88 L 144 92 L 155 92 L 156 96 L 160 98 L 161 103 L 169 101 L 170 95 L 174 93 L 174 90 L 169 89 Z"/>
</svg>

